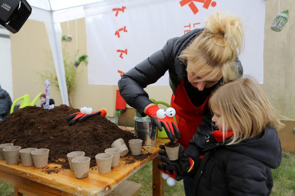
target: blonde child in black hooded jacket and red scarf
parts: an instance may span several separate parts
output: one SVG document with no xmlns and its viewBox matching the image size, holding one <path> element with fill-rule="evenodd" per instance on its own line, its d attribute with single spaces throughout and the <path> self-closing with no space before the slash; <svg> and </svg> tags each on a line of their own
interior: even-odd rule
<svg viewBox="0 0 295 196">
<path fill-rule="evenodd" d="M 207 138 L 200 164 L 195 161 L 192 168 L 184 163 L 185 154 L 182 162 L 165 163 L 179 171 L 180 165 L 190 166 L 186 168 L 187 174 L 194 173 L 191 195 L 270 195 L 270 168 L 277 168 L 282 158 L 276 129 L 284 124 L 259 84 L 250 77 L 231 80 L 212 94 L 209 107 L 219 130 Z"/>
</svg>

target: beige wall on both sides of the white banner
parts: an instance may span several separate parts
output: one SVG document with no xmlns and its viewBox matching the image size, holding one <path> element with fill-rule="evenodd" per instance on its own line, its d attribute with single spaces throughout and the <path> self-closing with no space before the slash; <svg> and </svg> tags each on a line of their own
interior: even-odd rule
<svg viewBox="0 0 295 196">
<path fill-rule="evenodd" d="M 295 1 L 281 1 L 281 10 L 294 8 Z M 295 119 L 295 14 L 290 18 L 282 32 L 277 33 L 269 27 L 278 13 L 278 1 L 266 0 L 265 40 L 264 40 L 264 89 L 276 110 L 283 116 Z M 77 20 L 79 55 L 87 54 L 85 20 Z M 67 23 L 62 23 L 63 34 L 66 34 Z M 76 50 L 75 21 L 69 22 L 69 32 L 73 37 L 67 43 L 66 51 L 74 56 Z M 29 94 L 31 100 L 39 93 L 44 92 L 44 81 L 36 72 L 46 70 L 48 58 L 45 51 L 50 50 L 44 23 L 28 20 L 17 34 L 11 34 L 12 64 L 13 64 L 13 93 L 18 98 Z M 243 62 L 242 62 L 243 63 Z M 99 66 L 99 62 L 97 62 Z M 117 86 L 89 85 L 87 67 L 79 65 L 74 94 L 70 96 L 72 106 L 90 106 L 94 110 L 106 108 L 109 117 L 115 116 L 115 93 Z M 170 103 L 172 91 L 169 86 L 146 88 L 151 98 Z M 51 97 L 56 105 L 62 104 L 61 95 L 51 89 Z M 39 105 L 40 101 L 37 102 Z"/>
</svg>

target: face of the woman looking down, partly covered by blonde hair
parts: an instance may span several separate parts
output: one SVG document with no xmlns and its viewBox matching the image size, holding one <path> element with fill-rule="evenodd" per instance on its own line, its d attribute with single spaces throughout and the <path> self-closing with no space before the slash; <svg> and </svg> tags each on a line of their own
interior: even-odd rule
<svg viewBox="0 0 295 196">
<path fill-rule="evenodd" d="M 193 63 L 191 61 L 187 62 L 187 68 L 190 68 L 193 66 Z M 214 84 L 216 84 L 221 78 L 222 73 L 219 73 L 215 78 L 212 78 L 211 80 L 204 80 L 196 82 L 196 79 L 202 79 L 205 78 L 208 74 L 201 75 L 197 78 L 194 78 L 194 75 L 197 73 L 197 70 L 195 72 L 187 72 L 187 79 L 193 85 L 193 87 L 197 88 L 199 91 L 202 91 L 204 88 L 210 88 Z"/>
</svg>

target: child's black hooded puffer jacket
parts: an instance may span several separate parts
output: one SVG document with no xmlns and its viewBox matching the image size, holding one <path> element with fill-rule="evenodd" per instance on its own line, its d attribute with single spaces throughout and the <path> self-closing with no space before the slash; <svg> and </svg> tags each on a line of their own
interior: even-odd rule
<svg viewBox="0 0 295 196">
<path fill-rule="evenodd" d="M 270 168 L 277 168 L 282 159 L 275 128 L 266 128 L 260 137 L 232 145 L 217 143 L 210 136 L 203 152 L 206 153 L 196 171 L 192 195 L 270 195 Z"/>
</svg>

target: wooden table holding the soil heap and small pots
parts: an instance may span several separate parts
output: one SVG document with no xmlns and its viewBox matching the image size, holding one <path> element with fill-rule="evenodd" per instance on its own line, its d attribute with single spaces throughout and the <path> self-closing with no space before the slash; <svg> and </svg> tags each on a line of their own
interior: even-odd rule
<svg viewBox="0 0 295 196">
<path fill-rule="evenodd" d="M 58 164 L 35 168 L 24 167 L 21 163 L 6 164 L 3 160 L 0 161 L 0 180 L 14 186 L 14 195 L 105 195 L 153 161 L 153 195 L 164 195 L 164 180 L 157 168 L 159 161 L 156 157 L 159 145 L 168 141 L 158 138 L 157 144 L 143 146 L 142 152 L 152 154 L 142 161 L 126 164 L 124 160 L 128 157 L 121 157 L 119 166 L 113 167 L 110 173 L 100 174 L 95 166 L 89 169 L 89 176 L 83 179 L 77 179 L 69 169 L 61 169 L 59 173 L 51 174 L 44 172 L 56 166 L 60 168 L 61 165 Z"/>
</svg>

